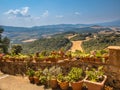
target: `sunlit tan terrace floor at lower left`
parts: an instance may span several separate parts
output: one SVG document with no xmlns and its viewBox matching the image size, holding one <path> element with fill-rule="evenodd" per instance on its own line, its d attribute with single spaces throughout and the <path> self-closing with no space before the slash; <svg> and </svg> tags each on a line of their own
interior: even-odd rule
<svg viewBox="0 0 120 90">
<path fill-rule="evenodd" d="M 11 76 L 0 73 L 0 90 L 51 90 L 44 86 L 30 84 L 27 77 Z"/>
</svg>

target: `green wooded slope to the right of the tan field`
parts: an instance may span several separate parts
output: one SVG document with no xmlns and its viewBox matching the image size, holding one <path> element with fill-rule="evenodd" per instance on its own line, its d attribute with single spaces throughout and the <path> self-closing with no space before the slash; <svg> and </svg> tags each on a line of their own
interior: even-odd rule
<svg viewBox="0 0 120 90">
<path fill-rule="evenodd" d="M 120 34 L 99 34 L 97 35 L 97 38 L 93 38 L 82 43 L 82 47 L 85 52 L 105 49 L 112 45 L 120 46 Z"/>
</svg>

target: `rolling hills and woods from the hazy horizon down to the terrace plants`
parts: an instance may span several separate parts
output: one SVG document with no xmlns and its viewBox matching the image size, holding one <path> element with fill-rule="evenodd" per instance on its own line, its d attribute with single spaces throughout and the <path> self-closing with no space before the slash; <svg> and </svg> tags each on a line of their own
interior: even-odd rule
<svg viewBox="0 0 120 90">
<path fill-rule="evenodd" d="M 81 24 L 60 24 L 31 28 L 3 27 L 3 36 L 9 37 L 12 44 L 22 44 L 23 53 L 59 50 L 61 48 L 69 50 L 75 41 L 80 41 L 80 43 L 74 45 L 74 50 L 82 45 L 82 49 L 89 52 L 106 48 L 108 45 L 119 45 L 120 42 L 120 27 Z M 90 40 L 81 43 L 86 39 Z"/>
</svg>

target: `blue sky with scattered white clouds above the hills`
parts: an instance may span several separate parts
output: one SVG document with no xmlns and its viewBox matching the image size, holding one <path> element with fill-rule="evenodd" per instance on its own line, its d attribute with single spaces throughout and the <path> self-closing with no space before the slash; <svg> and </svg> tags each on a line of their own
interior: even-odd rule
<svg viewBox="0 0 120 90">
<path fill-rule="evenodd" d="M 32 27 L 120 20 L 120 0 L 0 0 L 0 25 Z"/>
</svg>

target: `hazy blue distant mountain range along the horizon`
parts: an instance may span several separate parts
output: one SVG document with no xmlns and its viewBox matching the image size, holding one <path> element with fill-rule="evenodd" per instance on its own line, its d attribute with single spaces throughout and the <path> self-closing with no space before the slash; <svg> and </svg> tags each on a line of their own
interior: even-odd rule
<svg viewBox="0 0 120 90">
<path fill-rule="evenodd" d="M 111 24 L 115 22 L 111 22 Z M 65 33 L 65 32 L 98 32 L 101 30 L 111 30 L 102 25 L 110 25 L 109 23 L 101 24 L 58 24 L 58 25 L 46 25 L 46 26 L 34 26 L 34 27 L 13 27 L 13 26 L 2 26 L 4 28 L 4 36 L 9 37 L 14 43 L 21 43 L 25 40 L 39 39 L 41 37 L 50 37 L 51 35 Z M 118 25 L 119 22 L 116 22 Z"/>
</svg>

